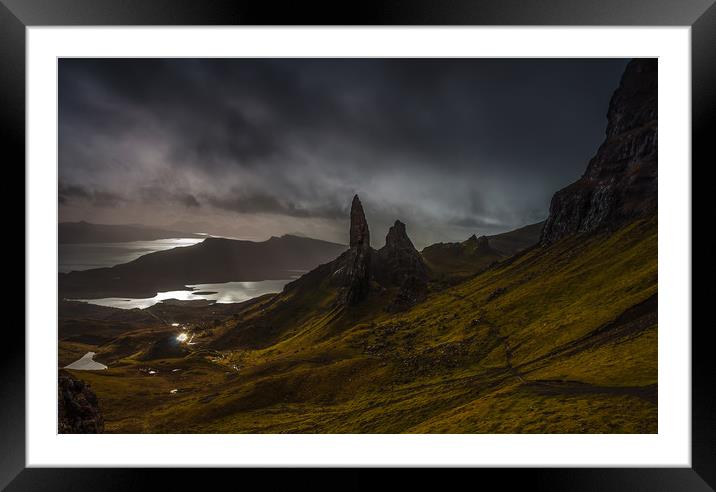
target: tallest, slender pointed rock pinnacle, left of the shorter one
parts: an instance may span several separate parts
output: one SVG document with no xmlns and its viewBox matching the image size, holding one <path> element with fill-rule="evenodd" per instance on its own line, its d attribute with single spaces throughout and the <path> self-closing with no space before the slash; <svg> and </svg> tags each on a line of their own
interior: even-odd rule
<svg viewBox="0 0 716 492">
<path fill-rule="evenodd" d="M 358 195 L 351 204 L 350 249 L 341 258 L 344 299 L 348 304 L 356 304 L 368 295 L 371 278 L 370 232 L 365 219 L 363 205 Z"/>
</svg>

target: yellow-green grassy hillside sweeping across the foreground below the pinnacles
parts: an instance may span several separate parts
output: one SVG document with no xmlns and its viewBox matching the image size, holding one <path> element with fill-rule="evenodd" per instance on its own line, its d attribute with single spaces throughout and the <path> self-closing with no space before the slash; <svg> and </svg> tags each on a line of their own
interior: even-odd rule
<svg viewBox="0 0 716 492">
<path fill-rule="evenodd" d="M 377 290 L 345 307 L 325 277 L 303 283 L 196 328 L 188 356 L 143 360 L 146 327 L 93 346 L 110 369 L 77 375 L 106 430 L 657 431 L 655 219 L 529 249 L 400 314 Z"/>
</svg>

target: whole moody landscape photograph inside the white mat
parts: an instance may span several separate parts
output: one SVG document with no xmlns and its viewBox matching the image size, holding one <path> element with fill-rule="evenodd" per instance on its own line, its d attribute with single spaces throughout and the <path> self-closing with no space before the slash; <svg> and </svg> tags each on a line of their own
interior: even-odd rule
<svg viewBox="0 0 716 492">
<path fill-rule="evenodd" d="M 658 434 L 658 80 L 58 57 L 57 432 Z"/>
</svg>

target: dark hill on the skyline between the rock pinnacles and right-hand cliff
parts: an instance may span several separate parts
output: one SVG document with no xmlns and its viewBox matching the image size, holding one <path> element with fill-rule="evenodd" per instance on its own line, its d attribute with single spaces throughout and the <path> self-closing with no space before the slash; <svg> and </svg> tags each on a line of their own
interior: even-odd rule
<svg viewBox="0 0 716 492">
<path fill-rule="evenodd" d="M 537 244 L 544 222 L 495 236 L 474 234 L 458 243 L 436 243 L 421 252 L 433 277 L 460 278 L 478 273 L 492 263 Z"/>
</svg>

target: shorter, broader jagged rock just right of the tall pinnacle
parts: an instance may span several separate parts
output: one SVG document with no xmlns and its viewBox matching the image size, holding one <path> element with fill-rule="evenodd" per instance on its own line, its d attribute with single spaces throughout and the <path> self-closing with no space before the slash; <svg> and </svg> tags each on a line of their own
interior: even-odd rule
<svg viewBox="0 0 716 492">
<path fill-rule="evenodd" d="M 375 252 L 375 280 L 385 287 L 399 287 L 389 306 L 391 311 L 406 309 L 427 295 L 428 268 L 399 220 L 388 230 L 385 246 Z"/>
</svg>

